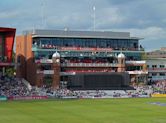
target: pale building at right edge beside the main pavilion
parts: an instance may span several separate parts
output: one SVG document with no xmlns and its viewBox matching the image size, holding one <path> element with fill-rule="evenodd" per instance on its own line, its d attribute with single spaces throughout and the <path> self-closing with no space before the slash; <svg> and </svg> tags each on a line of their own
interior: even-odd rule
<svg viewBox="0 0 166 123">
<path fill-rule="evenodd" d="M 166 80 L 166 48 L 147 52 L 147 67 L 149 81 Z"/>
</svg>

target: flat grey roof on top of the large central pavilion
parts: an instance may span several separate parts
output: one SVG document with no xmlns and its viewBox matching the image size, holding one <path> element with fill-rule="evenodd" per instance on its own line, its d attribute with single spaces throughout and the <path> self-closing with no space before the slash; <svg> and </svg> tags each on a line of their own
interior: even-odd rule
<svg viewBox="0 0 166 123">
<path fill-rule="evenodd" d="M 129 32 L 112 31 L 71 31 L 71 30 L 40 30 L 25 31 L 32 37 L 68 37 L 68 38 L 111 38 L 111 39 L 141 39 L 130 37 Z"/>
</svg>

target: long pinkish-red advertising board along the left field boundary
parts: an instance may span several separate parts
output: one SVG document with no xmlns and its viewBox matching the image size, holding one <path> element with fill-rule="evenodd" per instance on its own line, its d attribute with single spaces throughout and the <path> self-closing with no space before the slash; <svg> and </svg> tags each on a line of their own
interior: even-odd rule
<svg viewBox="0 0 166 123">
<path fill-rule="evenodd" d="M 48 96 L 18 96 L 18 97 L 9 97 L 9 100 L 40 100 L 48 99 Z"/>
</svg>

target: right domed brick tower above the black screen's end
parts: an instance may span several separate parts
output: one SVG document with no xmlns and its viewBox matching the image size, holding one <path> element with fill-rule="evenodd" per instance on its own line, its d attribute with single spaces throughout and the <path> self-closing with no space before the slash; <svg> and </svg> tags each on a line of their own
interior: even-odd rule
<svg viewBox="0 0 166 123">
<path fill-rule="evenodd" d="M 118 72 L 125 72 L 125 55 L 120 53 L 118 55 Z"/>
</svg>

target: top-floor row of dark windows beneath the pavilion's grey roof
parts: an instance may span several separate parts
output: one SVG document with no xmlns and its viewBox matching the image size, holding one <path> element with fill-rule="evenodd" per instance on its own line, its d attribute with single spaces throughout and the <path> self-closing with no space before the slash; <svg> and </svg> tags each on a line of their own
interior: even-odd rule
<svg viewBox="0 0 166 123">
<path fill-rule="evenodd" d="M 75 47 L 100 47 L 100 48 L 138 48 L 137 39 L 87 39 L 87 38 L 35 38 L 33 44 Z"/>
</svg>

